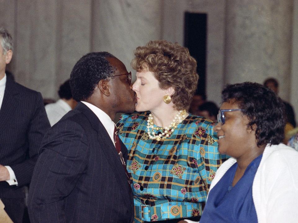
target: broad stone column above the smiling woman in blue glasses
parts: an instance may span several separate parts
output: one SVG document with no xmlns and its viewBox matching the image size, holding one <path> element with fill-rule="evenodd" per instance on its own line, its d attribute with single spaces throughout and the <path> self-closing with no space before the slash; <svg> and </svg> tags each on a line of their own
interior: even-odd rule
<svg viewBox="0 0 298 223">
<path fill-rule="evenodd" d="M 288 100 L 293 0 L 227 0 L 224 83 L 274 77 Z"/>
</svg>

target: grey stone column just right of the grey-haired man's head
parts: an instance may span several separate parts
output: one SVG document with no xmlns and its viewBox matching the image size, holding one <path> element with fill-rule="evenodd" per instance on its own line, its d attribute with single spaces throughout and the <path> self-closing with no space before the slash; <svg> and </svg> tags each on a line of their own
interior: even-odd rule
<svg viewBox="0 0 298 223">
<path fill-rule="evenodd" d="M 16 8 L 16 81 L 45 98 L 52 97 L 56 91 L 56 1 L 18 1 Z"/>
</svg>

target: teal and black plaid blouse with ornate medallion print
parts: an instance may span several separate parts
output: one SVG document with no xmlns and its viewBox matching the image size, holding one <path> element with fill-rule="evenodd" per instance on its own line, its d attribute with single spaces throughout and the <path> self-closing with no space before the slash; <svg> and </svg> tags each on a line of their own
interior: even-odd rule
<svg viewBox="0 0 298 223">
<path fill-rule="evenodd" d="M 156 141 L 147 133 L 149 114 L 122 115 L 117 124 L 129 151 L 135 222 L 201 215 L 214 174 L 227 159 L 218 152 L 215 123 L 189 114 L 170 138 Z"/>
</svg>

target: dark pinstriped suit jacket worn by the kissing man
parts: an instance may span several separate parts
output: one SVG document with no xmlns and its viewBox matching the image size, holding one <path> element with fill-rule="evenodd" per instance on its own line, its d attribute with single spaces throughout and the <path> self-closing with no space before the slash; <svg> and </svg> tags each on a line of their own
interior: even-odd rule
<svg viewBox="0 0 298 223">
<path fill-rule="evenodd" d="M 40 152 L 29 190 L 31 223 L 133 221 L 133 195 L 119 155 L 86 105 L 80 102 L 52 126 Z"/>
</svg>

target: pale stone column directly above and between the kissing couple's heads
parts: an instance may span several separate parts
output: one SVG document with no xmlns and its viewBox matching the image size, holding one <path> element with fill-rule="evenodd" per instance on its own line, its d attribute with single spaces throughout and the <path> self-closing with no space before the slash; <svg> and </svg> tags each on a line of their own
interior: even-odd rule
<svg viewBox="0 0 298 223">
<path fill-rule="evenodd" d="M 108 51 L 131 70 L 133 50 L 161 38 L 161 1 L 93 1 L 92 50 Z"/>
</svg>

